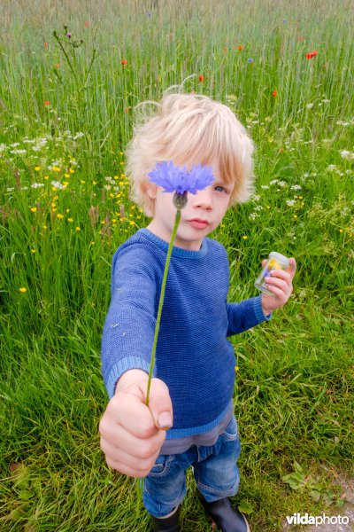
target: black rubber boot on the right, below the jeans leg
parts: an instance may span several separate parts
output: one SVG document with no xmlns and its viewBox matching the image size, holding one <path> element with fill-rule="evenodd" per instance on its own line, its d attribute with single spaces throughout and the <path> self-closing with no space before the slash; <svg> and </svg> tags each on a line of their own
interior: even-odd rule
<svg viewBox="0 0 354 532">
<path fill-rule="evenodd" d="M 207 503 L 203 495 L 198 492 L 198 499 L 205 513 L 212 518 L 222 532 L 250 532 L 246 518 L 237 508 L 234 508 L 229 498 Z"/>
</svg>

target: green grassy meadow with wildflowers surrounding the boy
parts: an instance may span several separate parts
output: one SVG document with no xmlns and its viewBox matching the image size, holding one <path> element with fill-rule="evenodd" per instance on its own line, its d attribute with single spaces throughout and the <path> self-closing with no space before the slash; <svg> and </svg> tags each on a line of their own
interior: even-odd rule
<svg viewBox="0 0 354 532">
<path fill-rule="evenodd" d="M 144 532 L 136 483 L 99 449 L 100 342 L 138 104 L 216 98 L 257 147 L 255 192 L 212 237 L 229 301 L 272 250 L 294 293 L 233 337 L 252 532 L 341 513 L 353 476 L 354 22 L 350 0 L 5 0 L 0 5 L 0 529 Z M 178 90 L 178 88 L 176 88 Z M 146 112 L 153 106 L 145 106 Z M 189 474 L 182 529 L 211 529 Z M 296 528 L 293 528 L 294 530 Z"/>
</svg>

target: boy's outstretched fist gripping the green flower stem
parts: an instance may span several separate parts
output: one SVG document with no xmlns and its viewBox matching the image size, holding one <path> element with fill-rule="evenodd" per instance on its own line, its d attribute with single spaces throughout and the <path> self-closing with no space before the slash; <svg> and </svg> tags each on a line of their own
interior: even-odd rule
<svg viewBox="0 0 354 532">
<path fill-rule="evenodd" d="M 133 381 L 129 379 L 132 375 Z M 149 406 L 146 406 L 147 382 L 148 375 L 140 370 L 124 373 L 99 426 L 107 464 L 132 477 L 150 473 L 165 442 L 165 429 L 173 423 L 172 403 L 165 383 L 160 379 L 151 380 Z"/>
</svg>

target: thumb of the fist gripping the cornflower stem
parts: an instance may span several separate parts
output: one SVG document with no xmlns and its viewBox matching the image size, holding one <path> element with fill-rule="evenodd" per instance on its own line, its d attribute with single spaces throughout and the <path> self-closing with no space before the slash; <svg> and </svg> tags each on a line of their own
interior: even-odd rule
<svg viewBox="0 0 354 532">
<path fill-rule="evenodd" d="M 171 397 L 163 380 L 151 379 L 149 408 L 157 428 L 167 430 L 173 426 Z"/>
</svg>

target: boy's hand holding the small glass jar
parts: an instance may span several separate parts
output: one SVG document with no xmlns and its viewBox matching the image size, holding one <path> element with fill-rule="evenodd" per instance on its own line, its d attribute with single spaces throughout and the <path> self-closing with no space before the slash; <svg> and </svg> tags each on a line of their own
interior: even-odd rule
<svg viewBox="0 0 354 532">
<path fill-rule="evenodd" d="M 262 267 L 266 266 L 266 260 L 262 262 Z M 274 295 L 262 294 L 262 309 L 265 316 L 268 316 L 275 309 L 279 309 L 289 300 L 293 291 L 293 278 L 296 272 L 296 260 L 289 259 L 288 270 L 272 270 L 270 277 L 266 278 L 266 287 Z"/>
</svg>

